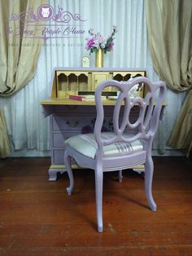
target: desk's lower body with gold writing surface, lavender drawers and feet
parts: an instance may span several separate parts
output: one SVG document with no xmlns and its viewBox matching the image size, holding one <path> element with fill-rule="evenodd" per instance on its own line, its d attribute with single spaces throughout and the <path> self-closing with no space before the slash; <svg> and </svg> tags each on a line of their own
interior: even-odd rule
<svg viewBox="0 0 192 256">
<path fill-rule="evenodd" d="M 111 108 L 114 105 L 113 100 L 105 100 L 105 120 L 103 129 L 110 130 Z M 49 170 L 49 180 L 55 181 L 57 173 L 63 174 L 65 166 L 63 162 L 64 156 L 64 140 L 72 135 L 85 132 L 92 132 L 94 128 L 94 120 L 96 117 L 96 108 L 94 102 L 76 101 L 72 99 L 47 99 L 41 102 L 44 117 L 50 117 L 50 145 L 51 145 L 51 166 Z M 132 109 L 133 119 L 137 118 L 138 108 Z M 72 168 L 78 168 L 76 163 Z M 143 171 L 143 166 L 134 168 L 137 172 Z"/>
</svg>

